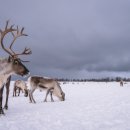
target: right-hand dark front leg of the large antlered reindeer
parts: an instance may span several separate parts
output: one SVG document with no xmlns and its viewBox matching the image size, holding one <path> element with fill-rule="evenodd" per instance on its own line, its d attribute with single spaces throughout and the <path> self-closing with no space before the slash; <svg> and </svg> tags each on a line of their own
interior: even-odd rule
<svg viewBox="0 0 130 130">
<path fill-rule="evenodd" d="M 9 99 L 9 87 L 10 87 L 10 81 L 11 81 L 11 76 L 8 78 L 7 83 L 6 83 L 6 102 L 4 109 L 8 109 L 8 99 Z"/>
</svg>

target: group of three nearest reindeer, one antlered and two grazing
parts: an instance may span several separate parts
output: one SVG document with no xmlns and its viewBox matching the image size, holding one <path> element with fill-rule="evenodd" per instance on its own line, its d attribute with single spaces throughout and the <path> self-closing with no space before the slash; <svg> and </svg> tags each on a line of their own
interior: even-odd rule
<svg viewBox="0 0 130 130">
<path fill-rule="evenodd" d="M 8 34 L 12 35 L 12 41 L 10 46 L 6 48 L 4 41 L 5 37 Z M 3 90 L 4 86 L 6 87 L 6 103 L 4 109 L 8 109 L 8 97 L 9 97 L 9 87 L 12 75 L 28 76 L 30 72 L 28 68 L 23 64 L 24 62 L 19 56 L 21 55 L 30 55 L 32 51 L 29 48 L 25 48 L 21 53 L 16 53 L 12 46 L 14 42 L 22 36 L 27 36 L 24 33 L 24 28 L 19 29 L 14 25 L 9 26 L 9 21 L 6 22 L 5 28 L 0 29 L 0 45 L 1 48 L 9 55 L 7 58 L 0 59 L 0 115 L 4 114 L 2 107 L 3 101 Z M 41 77 L 41 76 L 30 76 L 28 80 L 16 80 L 14 83 L 13 96 L 19 96 L 20 91 L 24 93 L 24 96 L 29 96 L 30 103 L 36 103 L 33 97 L 33 92 L 36 89 L 45 90 L 46 95 L 44 101 L 47 102 L 47 96 L 50 94 L 51 101 L 54 101 L 53 96 L 55 95 L 59 98 L 60 101 L 65 100 L 65 93 L 62 91 L 58 81 L 52 78 Z M 18 95 L 17 95 L 18 94 Z"/>
</svg>

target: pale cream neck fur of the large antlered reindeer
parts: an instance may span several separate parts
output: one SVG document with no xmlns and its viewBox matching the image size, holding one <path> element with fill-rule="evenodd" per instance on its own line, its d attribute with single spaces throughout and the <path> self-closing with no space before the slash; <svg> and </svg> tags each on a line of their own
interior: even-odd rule
<svg viewBox="0 0 130 130">
<path fill-rule="evenodd" d="M 0 88 L 4 83 L 6 83 L 7 78 L 13 73 L 12 65 L 8 62 L 8 59 L 0 59 Z"/>
</svg>

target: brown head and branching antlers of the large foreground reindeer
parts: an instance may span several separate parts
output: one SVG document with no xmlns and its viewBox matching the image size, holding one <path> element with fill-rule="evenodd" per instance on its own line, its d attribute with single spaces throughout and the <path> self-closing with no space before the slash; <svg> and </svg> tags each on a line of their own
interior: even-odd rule
<svg viewBox="0 0 130 130">
<path fill-rule="evenodd" d="M 1 37 L 0 37 L 0 44 L 2 46 L 2 49 L 7 52 L 9 54 L 9 59 L 8 59 L 8 62 L 10 63 L 11 67 L 12 67 L 12 71 L 15 73 L 15 74 L 18 74 L 18 75 L 21 75 L 21 76 L 24 76 L 24 75 L 27 75 L 29 74 L 29 70 L 23 65 L 22 62 L 27 62 L 27 61 L 22 61 L 18 56 L 19 55 L 29 55 L 31 54 L 31 50 L 28 49 L 28 48 L 25 48 L 23 50 L 23 52 L 21 53 L 15 53 L 13 50 L 12 50 L 12 45 L 14 44 L 14 42 L 16 41 L 16 39 L 18 37 L 21 37 L 21 36 L 27 36 L 26 34 L 23 33 L 24 31 L 24 28 L 22 28 L 21 30 L 18 28 L 13 28 L 14 26 L 10 26 L 8 27 L 8 24 L 9 24 L 9 21 L 6 22 L 6 26 L 5 26 L 5 29 L 4 30 L 0 30 L 0 34 L 1 34 Z M 3 43 L 3 40 L 5 38 L 5 36 L 8 34 L 8 33 L 11 33 L 12 36 L 13 36 L 13 40 L 10 44 L 10 47 L 9 48 L 6 48 L 4 46 L 4 43 Z"/>
</svg>

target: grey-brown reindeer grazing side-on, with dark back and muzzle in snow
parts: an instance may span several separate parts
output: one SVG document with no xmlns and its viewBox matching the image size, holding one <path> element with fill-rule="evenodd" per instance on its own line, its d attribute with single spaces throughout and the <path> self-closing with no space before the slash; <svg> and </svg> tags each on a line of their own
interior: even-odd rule
<svg viewBox="0 0 130 130">
<path fill-rule="evenodd" d="M 47 96 L 49 93 L 51 95 L 51 101 L 54 101 L 52 98 L 52 94 L 57 96 L 60 101 L 65 100 L 65 93 L 62 91 L 59 83 L 52 78 L 32 76 L 28 78 L 28 85 L 30 86 L 30 90 L 29 90 L 30 103 L 32 102 L 36 103 L 36 101 L 33 98 L 33 92 L 37 88 L 40 88 L 40 90 L 42 89 L 47 91 L 44 102 L 47 102 Z"/>
</svg>

